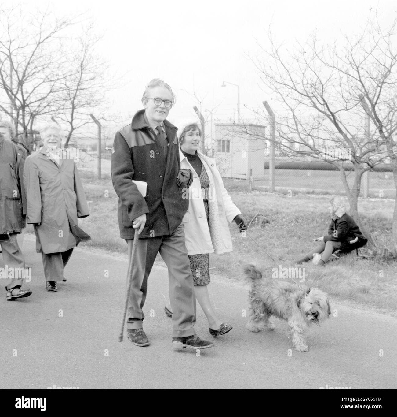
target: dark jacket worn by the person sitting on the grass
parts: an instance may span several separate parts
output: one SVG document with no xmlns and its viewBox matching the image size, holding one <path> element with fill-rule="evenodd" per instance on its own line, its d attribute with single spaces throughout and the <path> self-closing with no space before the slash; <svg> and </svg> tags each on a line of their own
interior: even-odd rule
<svg viewBox="0 0 397 417">
<path fill-rule="evenodd" d="M 358 241 L 351 244 L 350 241 L 356 237 L 358 237 Z M 340 249 L 345 251 L 359 248 L 367 243 L 367 239 L 361 233 L 356 222 L 347 213 L 339 219 L 331 220 L 328 236 L 324 236 L 324 242 L 328 240 L 341 242 L 342 247 Z"/>
</svg>

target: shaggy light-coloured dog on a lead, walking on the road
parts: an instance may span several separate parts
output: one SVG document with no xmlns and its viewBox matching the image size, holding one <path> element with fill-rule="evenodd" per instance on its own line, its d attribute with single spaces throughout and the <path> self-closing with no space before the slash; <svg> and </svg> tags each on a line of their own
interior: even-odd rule
<svg viewBox="0 0 397 417">
<path fill-rule="evenodd" d="M 291 282 L 263 279 L 255 265 L 244 266 L 243 272 L 246 281 L 252 283 L 248 293 L 248 330 L 260 332 L 264 327 L 274 330 L 271 316 L 278 317 L 288 322 L 293 347 L 308 352 L 305 332 L 311 324 L 319 325 L 331 314 L 327 294 L 318 288 L 300 289 Z"/>
</svg>

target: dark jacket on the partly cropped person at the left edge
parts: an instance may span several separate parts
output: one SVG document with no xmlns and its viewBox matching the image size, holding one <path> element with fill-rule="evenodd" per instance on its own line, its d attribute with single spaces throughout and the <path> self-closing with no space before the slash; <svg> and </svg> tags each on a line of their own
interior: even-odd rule
<svg viewBox="0 0 397 417">
<path fill-rule="evenodd" d="M 20 233 L 25 226 L 22 151 L 0 135 L 0 234 Z"/>
</svg>

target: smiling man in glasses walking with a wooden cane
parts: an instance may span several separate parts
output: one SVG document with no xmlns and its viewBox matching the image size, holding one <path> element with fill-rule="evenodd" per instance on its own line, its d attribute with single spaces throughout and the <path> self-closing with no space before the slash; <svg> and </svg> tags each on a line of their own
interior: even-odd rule
<svg viewBox="0 0 397 417">
<path fill-rule="evenodd" d="M 177 183 L 180 170 L 176 127 L 166 120 L 175 98 L 163 80 L 151 80 L 142 96 L 143 110 L 114 138 L 112 181 L 119 197 L 120 237 L 128 243 L 132 285 L 127 304 L 127 336 L 136 346 L 148 346 L 143 331 L 148 276 L 158 252 L 169 269 L 173 309 L 172 347 L 206 349 L 213 343 L 194 332 L 196 299 L 185 247 L 182 219 L 189 200 L 186 183 Z M 143 197 L 134 181 L 147 183 Z M 138 238 L 132 256 L 133 239 Z M 134 258 L 134 259 L 132 259 Z M 128 283 L 128 278 L 127 278 Z"/>
</svg>

